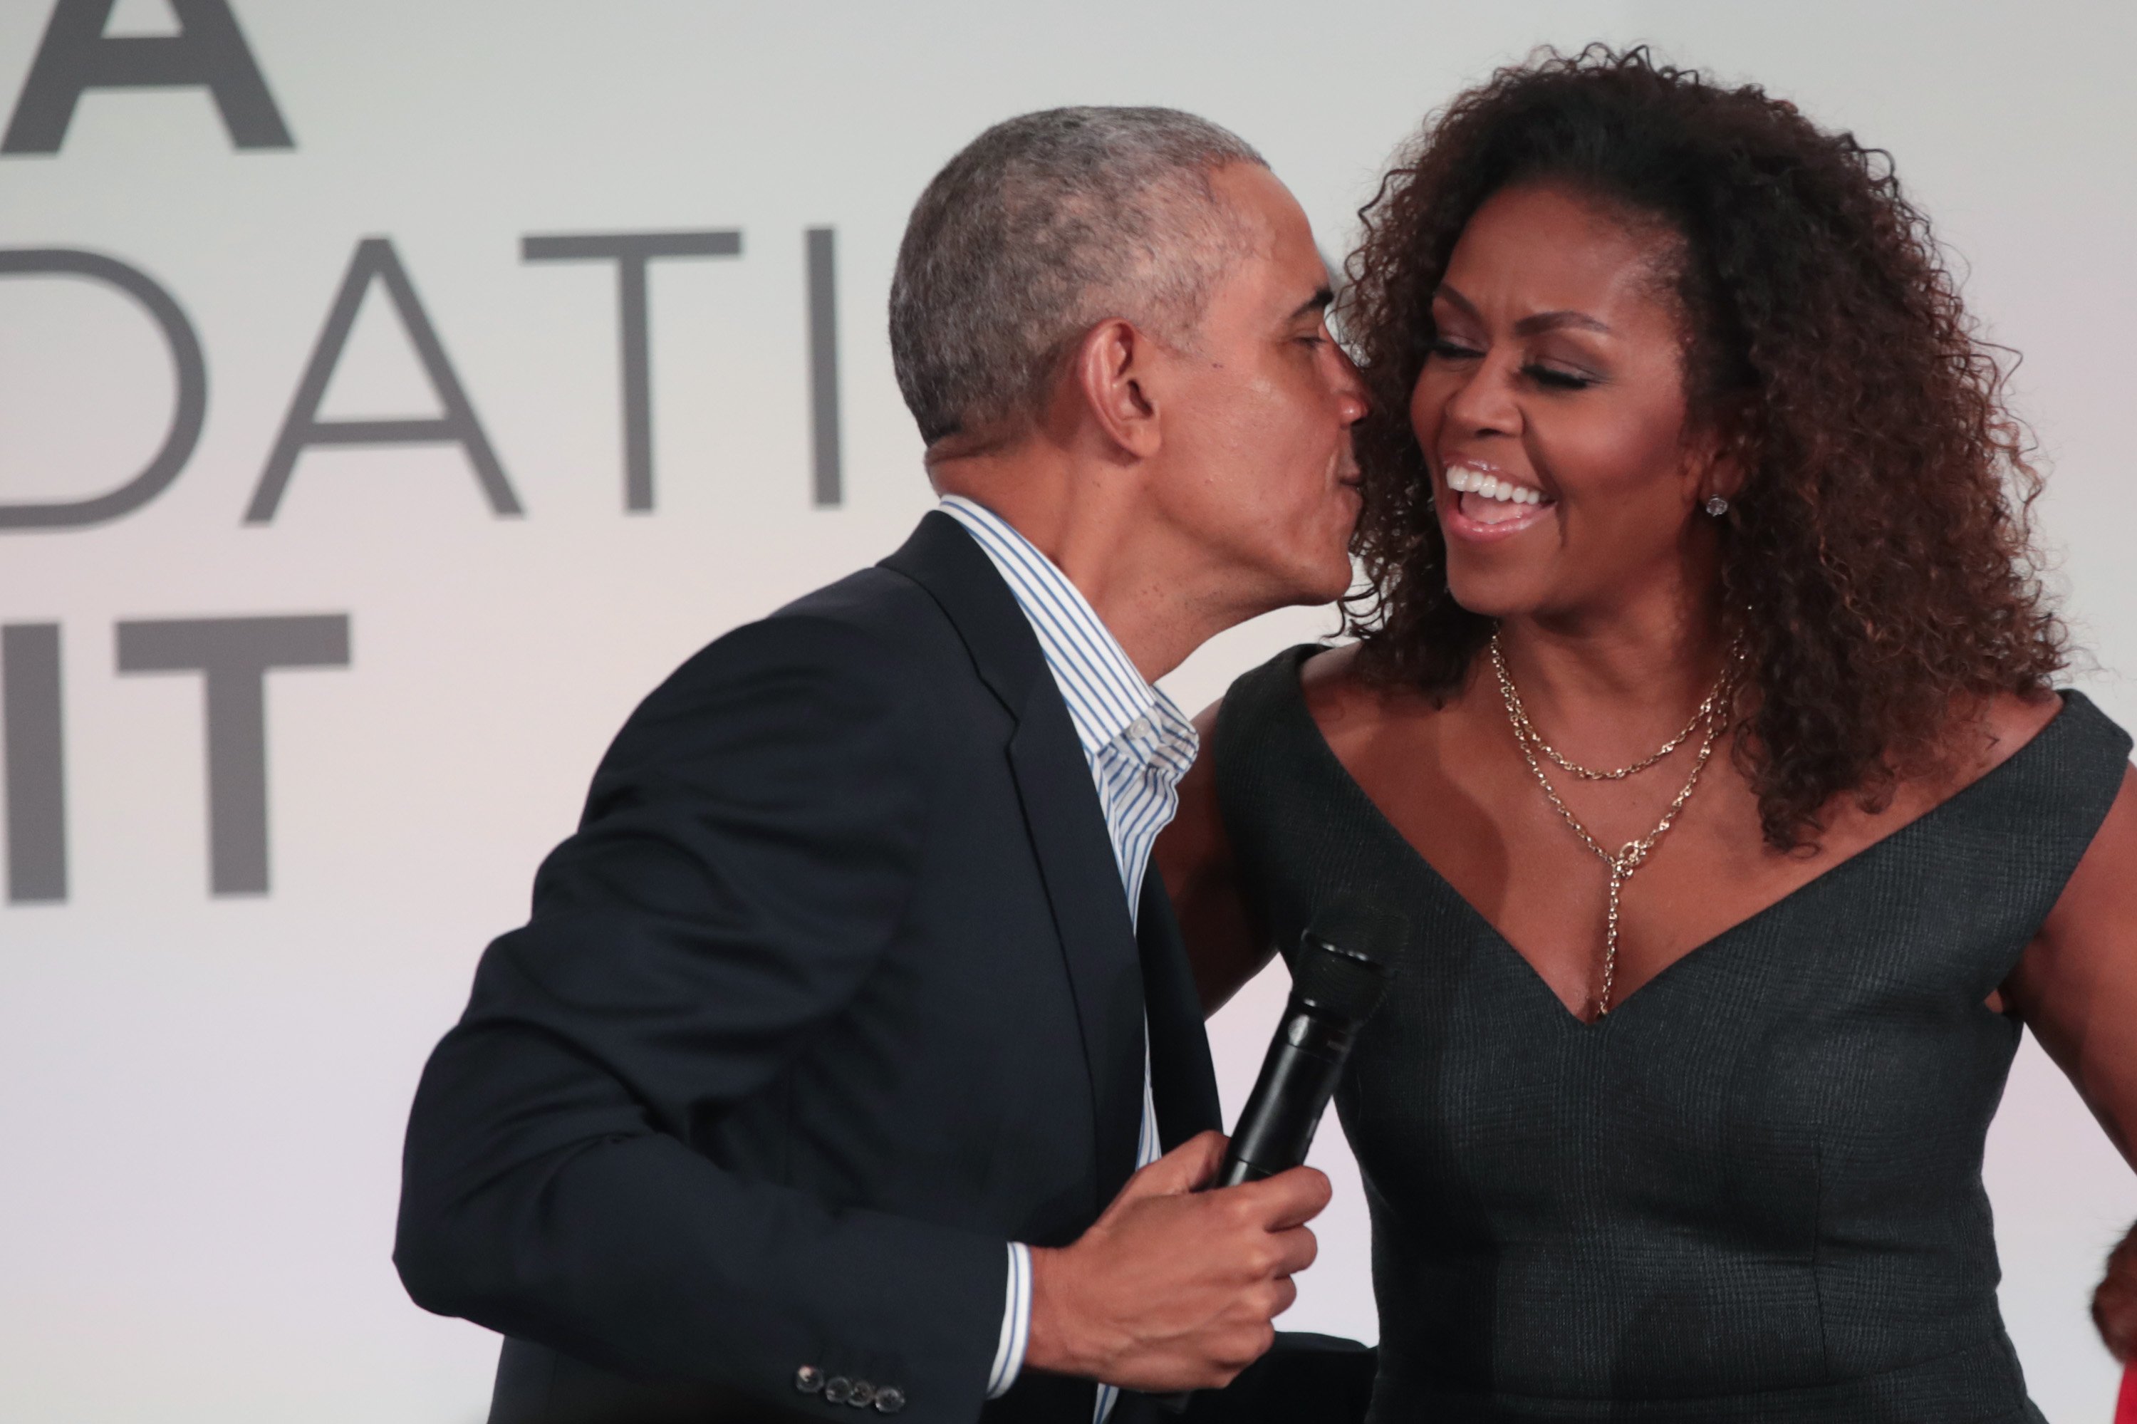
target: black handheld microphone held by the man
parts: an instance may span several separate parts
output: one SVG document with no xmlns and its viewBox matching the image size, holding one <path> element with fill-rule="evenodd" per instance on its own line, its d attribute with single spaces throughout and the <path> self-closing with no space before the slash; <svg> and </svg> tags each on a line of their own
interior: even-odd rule
<svg viewBox="0 0 2137 1424">
<path fill-rule="evenodd" d="M 1348 911 L 1299 939 L 1291 1003 L 1212 1187 L 1237 1187 L 1306 1161 L 1357 1031 L 1387 994 L 1387 964 L 1402 928 L 1395 915 Z"/>
</svg>

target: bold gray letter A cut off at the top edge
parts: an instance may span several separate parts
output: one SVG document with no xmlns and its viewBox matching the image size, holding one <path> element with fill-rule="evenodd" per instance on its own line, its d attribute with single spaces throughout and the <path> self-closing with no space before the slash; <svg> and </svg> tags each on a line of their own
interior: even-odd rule
<svg viewBox="0 0 2137 1424">
<path fill-rule="evenodd" d="M 229 0 L 169 0 L 177 34 L 105 34 L 115 0 L 58 0 L 0 154 L 58 154 L 85 90 L 207 90 L 237 148 L 297 148 Z"/>
</svg>

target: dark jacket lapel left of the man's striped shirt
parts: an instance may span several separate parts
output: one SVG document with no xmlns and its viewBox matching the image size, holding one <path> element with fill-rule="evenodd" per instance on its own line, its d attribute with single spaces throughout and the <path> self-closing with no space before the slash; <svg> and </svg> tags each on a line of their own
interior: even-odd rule
<svg viewBox="0 0 2137 1424">
<path fill-rule="evenodd" d="M 1017 721 L 1009 772 L 1045 879 L 1083 1037 L 1098 1144 L 1096 1214 L 1135 1170 L 1143 1112 L 1143 975 L 1090 763 L 1024 609 L 955 520 L 930 513 L 883 564 L 934 597 L 981 680 Z"/>
</svg>

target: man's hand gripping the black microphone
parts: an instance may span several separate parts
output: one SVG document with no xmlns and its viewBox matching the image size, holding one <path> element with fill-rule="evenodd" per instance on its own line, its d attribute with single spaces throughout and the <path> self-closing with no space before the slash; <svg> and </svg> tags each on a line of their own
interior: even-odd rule
<svg viewBox="0 0 2137 1424">
<path fill-rule="evenodd" d="M 1225 1161 L 1201 1133 L 1128 1178 L 1073 1247 L 1032 1251 L 1028 1368 L 1128 1390 L 1214 1390 L 1261 1358 L 1314 1262 L 1329 1204 L 1312 1167 L 1197 1193 Z"/>
</svg>

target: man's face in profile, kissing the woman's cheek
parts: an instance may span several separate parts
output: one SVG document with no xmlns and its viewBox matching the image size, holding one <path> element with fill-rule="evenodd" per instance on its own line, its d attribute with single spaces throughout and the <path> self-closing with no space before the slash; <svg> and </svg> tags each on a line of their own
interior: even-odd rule
<svg viewBox="0 0 2137 1424">
<path fill-rule="evenodd" d="M 1220 567 L 1257 612 L 1351 588 L 1366 389 L 1327 329 L 1329 287 L 1291 192 L 1257 165 L 1212 173 L 1250 233 L 1210 297 L 1192 351 L 1167 353 L 1158 515 Z"/>
</svg>

